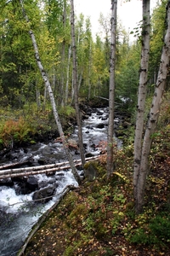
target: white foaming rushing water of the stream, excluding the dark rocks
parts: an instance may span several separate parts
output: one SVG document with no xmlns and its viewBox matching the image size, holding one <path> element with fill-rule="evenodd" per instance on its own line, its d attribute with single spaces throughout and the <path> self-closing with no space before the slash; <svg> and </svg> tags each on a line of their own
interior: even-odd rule
<svg viewBox="0 0 170 256">
<path fill-rule="evenodd" d="M 88 119 L 83 121 L 83 143 L 86 144 L 87 154 L 99 154 L 100 149 L 96 146 L 107 140 L 107 122 L 106 108 L 97 109 Z M 77 128 L 71 138 L 77 141 Z M 31 157 L 36 163 L 42 157 L 43 149 L 47 148 L 47 146 L 48 151 L 46 151 L 46 154 L 48 152 L 48 157 L 51 160 L 54 162 L 65 160 L 65 152 L 62 145 L 56 142 L 49 142 L 48 145 L 37 143 L 37 145 L 31 146 L 26 150 L 20 148 L 17 154 L 20 154 L 20 160 L 26 160 Z M 79 155 L 74 153 L 73 158 L 79 158 Z M 4 163 L 5 160 L 2 160 L 2 162 Z M 53 177 L 47 177 L 46 174 L 36 175 L 35 177 L 38 184 L 45 182 L 47 186 L 50 186 L 51 183 L 55 186 L 55 195 L 46 204 L 34 204 L 32 202 L 34 192 L 27 195 L 17 193 L 17 183 L 14 183 L 12 188 L 7 186 L 0 187 L 0 212 L 3 212 L 1 214 L 2 219 L 0 219 L 1 256 L 15 256 L 26 240 L 32 226 L 37 223 L 38 218 L 43 212 L 52 207 L 56 201 L 59 201 L 59 196 L 65 186 L 68 184 L 77 186 L 71 170 L 57 172 Z"/>
</svg>

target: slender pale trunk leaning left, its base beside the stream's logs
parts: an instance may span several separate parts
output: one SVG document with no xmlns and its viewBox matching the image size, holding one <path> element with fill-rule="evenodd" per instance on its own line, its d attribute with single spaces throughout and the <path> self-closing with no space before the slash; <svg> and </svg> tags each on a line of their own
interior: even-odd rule
<svg viewBox="0 0 170 256">
<path fill-rule="evenodd" d="M 22 0 L 20 0 L 20 6 L 21 6 L 21 9 L 22 9 L 23 15 L 26 19 L 26 22 L 29 22 L 29 19 L 28 19 L 28 16 L 26 15 L 26 10 L 24 8 L 24 4 L 23 4 Z M 55 122 L 56 122 L 58 130 L 59 130 L 59 136 L 62 139 L 62 143 L 63 143 L 63 147 L 65 149 L 65 153 L 67 155 L 67 158 L 68 158 L 70 166 L 71 166 L 71 171 L 72 171 L 75 179 L 77 180 L 77 183 L 81 183 L 81 178 L 77 173 L 76 166 L 74 165 L 74 162 L 73 162 L 72 157 L 71 157 L 71 153 L 70 153 L 69 148 L 67 147 L 67 143 L 65 141 L 65 135 L 64 135 L 61 123 L 60 123 L 59 114 L 58 114 L 57 109 L 56 109 L 56 105 L 55 105 L 55 101 L 54 101 L 54 94 L 53 94 L 53 91 L 51 89 L 51 84 L 49 83 L 48 76 L 47 76 L 44 68 L 42 67 L 42 62 L 40 60 L 40 56 L 39 56 L 39 52 L 38 52 L 38 48 L 37 48 L 36 38 L 34 36 L 34 33 L 31 30 L 29 31 L 29 33 L 30 33 L 31 41 L 32 41 L 34 51 L 35 51 L 37 66 L 39 67 L 40 73 L 42 74 L 42 79 L 44 80 L 44 83 L 45 83 L 45 85 L 47 87 L 47 90 L 48 90 L 49 98 L 50 98 L 51 105 L 52 105 L 53 112 L 54 112 L 54 119 L 55 119 Z"/>
</svg>

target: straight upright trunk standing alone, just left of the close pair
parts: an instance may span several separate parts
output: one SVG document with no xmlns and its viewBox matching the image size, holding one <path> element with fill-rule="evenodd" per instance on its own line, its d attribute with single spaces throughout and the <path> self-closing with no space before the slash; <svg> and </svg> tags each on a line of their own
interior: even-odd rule
<svg viewBox="0 0 170 256">
<path fill-rule="evenodd" d="M 114 128 L 114 97 L 115 97 L 115 61 L 116 61 L 116 9 L 117 0 L 111 1 L 111 60 L 109 88 L 109 123 L 107 134 L 107 177 L 113 172 L 113 128 Z"/>
</svg>

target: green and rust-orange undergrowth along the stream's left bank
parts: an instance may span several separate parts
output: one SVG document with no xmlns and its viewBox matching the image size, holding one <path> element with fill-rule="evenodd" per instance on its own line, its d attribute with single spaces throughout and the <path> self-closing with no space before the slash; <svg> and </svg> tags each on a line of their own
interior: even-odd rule
<svg viewBox="0 0 170 256">
<path fill-rule="evenodd" d="M 35 143 L 37 137 L 57 131 L 51 108 L 43 111 L 34 107 L 20 110 L 8 108 L 5 112 L 0 109 L 0 149 L 13 148 L 22 143 Z M 71 107 L 60 108 L 59 115 L 65 130 L 71 127 L 75 110 Z"/>
</svg>

